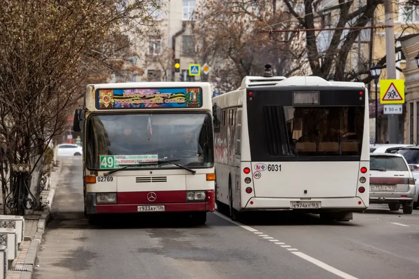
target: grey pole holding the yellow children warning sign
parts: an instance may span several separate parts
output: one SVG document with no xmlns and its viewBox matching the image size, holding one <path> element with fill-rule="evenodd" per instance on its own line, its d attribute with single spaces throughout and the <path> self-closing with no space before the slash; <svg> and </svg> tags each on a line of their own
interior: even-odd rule
<svg viewBox="0 0 419 279">
<path fill-rule="evenodd" d="M 396 79 L 396 57 L 394 45 L 394 27 L 393 26 L 393 1 L 384 0 L 385 23 L 385 55 L 387 79 Z M 399 143 L 399 116 L 397 114 L 388 115 L 388 142 L 392 144 Z"/>
</svg>

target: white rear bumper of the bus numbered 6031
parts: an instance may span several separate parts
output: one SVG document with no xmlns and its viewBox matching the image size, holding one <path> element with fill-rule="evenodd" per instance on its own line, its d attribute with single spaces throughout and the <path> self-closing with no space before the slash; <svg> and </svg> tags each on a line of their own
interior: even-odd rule
<svg viewBox="0 0 419 279">
<path fill-rule="evenodd" d="M 327 210 L 345 210 L 345 211 L 363 211 L 368 208 L 360 197 L 350 198 L 312 198 L 311 200 L 301 200 L 299 198 L 259 198 L 252 197 L 243 210 L 290 210 L 293 209 L 294 202 L 300 203 L 319 203 L 319 208 L 304 208 L 307 211 L 327 211 Z M 368 201 L 367 201 L 368 202 Z M 294 208 L 295 209 L 295 208 Z"/>
</svg>

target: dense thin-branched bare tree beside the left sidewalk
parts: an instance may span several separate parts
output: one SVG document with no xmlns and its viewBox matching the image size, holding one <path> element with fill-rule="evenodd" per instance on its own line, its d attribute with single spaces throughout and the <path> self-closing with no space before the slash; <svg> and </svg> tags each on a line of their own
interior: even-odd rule
<svg viewBox="0 0 419 279">
<path fill-rule="evenodd" d="M 156 0 L 20 0 L 0 6 L 0 135 L 10 162 L 30 165 L 27 209 L 39 206 L 42 154 L 66 128 L 80 88 L 132 55 L 121 40 L 148 31 L 150 7 Z M 9 209 L 22 204 L 16 174 L 11 172 L 8 192 L 1 172 Z"/>
</svg>

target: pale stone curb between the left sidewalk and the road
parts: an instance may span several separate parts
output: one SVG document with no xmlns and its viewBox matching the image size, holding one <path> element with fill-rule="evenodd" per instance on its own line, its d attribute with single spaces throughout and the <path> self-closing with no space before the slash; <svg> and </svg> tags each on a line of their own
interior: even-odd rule
<svg viewBox="0 0 419 279">
<path fill-rule="evenodd" d="M 20 279 L 31 279 L 32 278 L 32 274 L 34 271 L 34 267 L 35 267 L 35 262 L 36 262 L 36 255 L 38 254 L 39 251 L 39 247 L 41 245 L 41 240 L 42 240 L 42 236 L 44 234 L 45 231 L 45 226 L 50 218 L 50 210 L 51 210 L 51 205 L 52 205 L 52 201 L 54 199 L 55 196 L 55 188 L 58 184 L 58 180 L 61 174 L 61 170 L 62 170 L 62 163 L 58 162 L 58 168 L 56 169 L 55 173 L 56 173 L 56 179 L 55 181 L 51 182 L 51 186 L 49 189 L 49 193 L 48 193 L 48 197 L 46 199 L 46 203 L 48 203 L 48 205 L 45 207 L 44 209 L 44 213 L 41 215 L 41 217 L 38 220 L 37 223 L 37 227 L 36 227 L 36 233 L 35 233 L 35 238 L 31 239 L 30 237 L 25 237 L 25 241 L 22 242 L 21 245 L 28 243 L 29 242 L 29 248 L 27 250 L 27 254 L 24 260 L 19 259 L 19 257 L 17 257 L 14 261 L 16 261 L 16 265 L 19 265 L 19 268 L 21 268 L 21 275 L 20 275 Z M 21 250 L 22 252 L 22 250 Z M 9 276 L 7 276 L 9 278 Z M 14 278 L 14 277 L 13 277 Z"/>
</svg>

